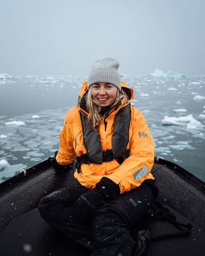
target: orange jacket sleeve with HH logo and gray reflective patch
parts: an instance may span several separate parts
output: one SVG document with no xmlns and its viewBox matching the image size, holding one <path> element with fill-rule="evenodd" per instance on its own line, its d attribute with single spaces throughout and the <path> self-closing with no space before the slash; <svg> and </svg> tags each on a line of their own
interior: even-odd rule
<svg viewBox="0 0 205 256">
<path fill-rule="evenodd" d="M 141 185 L 145 179 L 154 179 L 150 173 L 154 165 L 154 143 L 141 112 L 134 107 L 131 112 L 130 156 L 107 178 L 119 183 L 121 193 Z"/>
</svg>

